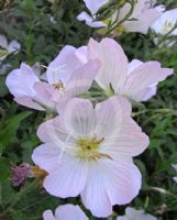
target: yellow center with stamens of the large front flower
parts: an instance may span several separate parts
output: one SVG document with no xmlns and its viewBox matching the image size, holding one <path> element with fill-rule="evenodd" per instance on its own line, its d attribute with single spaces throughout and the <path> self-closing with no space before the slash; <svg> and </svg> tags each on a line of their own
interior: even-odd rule
<svg viewBox="0 0 177 220">
<path fill-rule="evenodd" d="M 111 158 L 109 155 L 100 153 L 100 144 L 104 141 L 104 138 L 85 138 L 77 141 L 79 147 L 78 157 L 87 160 Z"/>
</svg>

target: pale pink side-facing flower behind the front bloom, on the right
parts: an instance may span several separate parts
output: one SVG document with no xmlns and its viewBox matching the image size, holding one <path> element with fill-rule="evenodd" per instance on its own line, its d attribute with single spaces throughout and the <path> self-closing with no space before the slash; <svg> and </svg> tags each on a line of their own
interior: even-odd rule
<svg viewBox="0 0 177 220">
<path fill-rule="evenodd" d="M 173 69 L 162 68 L 158 62 L 133 59 L 129 63 L 122 47 L 111 38 L 100 43 L 91 38 L 88 53 L 90 58 L 101 62 L 96 81 L 109 96 L 115 94 L 134 101 L 146 101 L 156 94 L 157 84 L 173 74 Z"/>
</svg>

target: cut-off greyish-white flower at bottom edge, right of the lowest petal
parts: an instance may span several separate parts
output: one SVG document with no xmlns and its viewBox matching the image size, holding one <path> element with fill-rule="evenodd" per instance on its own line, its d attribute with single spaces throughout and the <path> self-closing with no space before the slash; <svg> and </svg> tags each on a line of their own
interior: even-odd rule
<svg viewBox="0 0 177 220">
<path fill-rule="evenodd" d="M 117 220 L 157 220 L 157 218 L 145 213 L 144 210 L 128 207 L 125 209 L 125 216 L 118 217 Z"/>
</svg>

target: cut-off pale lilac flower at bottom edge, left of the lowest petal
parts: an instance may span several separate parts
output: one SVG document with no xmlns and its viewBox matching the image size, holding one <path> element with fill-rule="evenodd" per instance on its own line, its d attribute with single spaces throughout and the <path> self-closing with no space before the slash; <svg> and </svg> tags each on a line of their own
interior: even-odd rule
<svg viewBox="0 0 177 220">
<path fill-rule="evenodd" d="M 44 220 L 88 220 L 85 212 L 79 206 L 71 204 L 63 205 L 56 208 L 55 217 L 51 210 L 46 210 L 43 213 Z"/>
</svg>

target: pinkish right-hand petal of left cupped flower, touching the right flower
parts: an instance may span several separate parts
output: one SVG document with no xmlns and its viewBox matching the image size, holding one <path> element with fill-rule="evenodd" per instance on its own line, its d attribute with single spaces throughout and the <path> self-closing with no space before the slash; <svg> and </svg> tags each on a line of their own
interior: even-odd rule
<svg viewBox="0 0 177 220">
<path fill-rule="evenodd" d="M 74 70 L 70 75 L 69 81 L 66 85 L 66 95 L 69 97 L 75 97 L 88 91 L 99 68 L 100 62 L 90 59 L 87 64 Z"/>
</svg>

